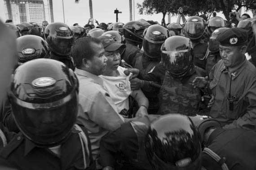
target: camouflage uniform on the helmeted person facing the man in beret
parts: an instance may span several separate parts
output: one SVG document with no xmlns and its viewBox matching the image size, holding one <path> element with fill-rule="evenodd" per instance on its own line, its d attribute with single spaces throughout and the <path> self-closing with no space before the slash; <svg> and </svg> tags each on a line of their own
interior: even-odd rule
<svg viewBox="0 0 256 170">
<path fill-rule="evenodd" d="M 163 85 L 160 89 L 159 114 L 181 113 L 190 115 L 199 111 L 201 90 L 193 88 L 192 81 L 195 77 L 205 76 L 202 68 L 194 66 L 188 75 L 174 78 L 165 72 Z"/>
</svg>

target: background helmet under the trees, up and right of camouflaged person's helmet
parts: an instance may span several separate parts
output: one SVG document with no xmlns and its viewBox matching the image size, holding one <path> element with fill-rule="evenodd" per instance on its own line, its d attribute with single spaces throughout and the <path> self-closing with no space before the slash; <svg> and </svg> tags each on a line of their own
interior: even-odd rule
<svg viewBox="0 0 256 170">
<path fill-rule="evenodd" d="M 205 20 L 202 17 L 192 16 L 185 21 L 184 32 L 187 38 L 199 40 L 203 37 Z"/>
</svg>

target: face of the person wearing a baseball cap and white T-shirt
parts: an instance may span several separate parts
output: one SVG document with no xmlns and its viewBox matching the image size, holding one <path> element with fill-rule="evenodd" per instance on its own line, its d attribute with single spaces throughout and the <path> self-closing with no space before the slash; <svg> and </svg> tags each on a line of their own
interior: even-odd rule
<svg viewBox="0 0 256 170">
<path fill-rule="evenodd" d="M 105 51 L 104 55 L 107 58 L 107 69 L 108 70 L 117 70 L 121 56 L 119 54 L 119 50 L 116 51 Z"/>
</svg>

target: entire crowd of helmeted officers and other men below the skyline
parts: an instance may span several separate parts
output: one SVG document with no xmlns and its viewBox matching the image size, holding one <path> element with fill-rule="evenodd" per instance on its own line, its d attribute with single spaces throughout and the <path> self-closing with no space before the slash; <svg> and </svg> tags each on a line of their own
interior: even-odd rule
<svg viewBox="0 0 256 170">
<path fill-rule="evenodd" d="M 1 170 L 256 170 L 256 18 L 0 37 Z"/>
</svg>

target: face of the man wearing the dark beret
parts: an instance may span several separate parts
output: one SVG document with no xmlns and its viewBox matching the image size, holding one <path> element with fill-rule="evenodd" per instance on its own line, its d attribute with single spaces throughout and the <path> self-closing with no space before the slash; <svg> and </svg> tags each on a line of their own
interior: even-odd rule
<svg viewBox="0 0 256 170">
<path fill-rule="evenodd" d="M 243 53 L 241 47 L 227 47 L 220 45 L 220 55 L 224 65 L 229 68 L 234 68 L 243 62 Z"/>
</svg>

